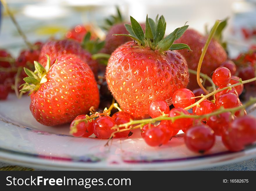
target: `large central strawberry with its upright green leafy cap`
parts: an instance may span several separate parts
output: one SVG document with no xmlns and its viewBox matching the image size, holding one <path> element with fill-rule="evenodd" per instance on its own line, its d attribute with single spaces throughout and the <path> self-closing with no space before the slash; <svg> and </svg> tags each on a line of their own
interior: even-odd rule
<svg viewBox="0 0 256 191">
<path fill-rule="evenodd" d="M 177 49 L 185 44 L 174 44 L 188 26 L 175 29 L 164 37 L 166 22 L 163 16 L 158 23 L 146 18 L 145 34 L 141 25 L 131 17 L 131 25 L 125 24 L 131 37 L 118 47 L 109 59 L 106 81 L 120 107 L 135 119 L 149 117 L 148 107 L 154 100 L 172 103 L 172 95 L 189 82 L 187 63 Z M 190 50 L 190 49 L 189 49 Z"/>
</svg>

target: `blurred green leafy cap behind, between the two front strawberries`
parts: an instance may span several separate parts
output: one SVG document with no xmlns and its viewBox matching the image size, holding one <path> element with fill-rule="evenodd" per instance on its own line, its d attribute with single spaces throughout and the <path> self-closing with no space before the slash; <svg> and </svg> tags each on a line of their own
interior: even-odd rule
<svg viewBox="0 0 256 191">
<path fill-rule="evenodd" d="M 96 54 L 99 52 L 105 45 L 105 41 L 100 41 L 99 38 L 91 39 L 91 33 L 87 32 L 83 38 L 81 46 L 83 49 L 87 50 L 91 54 Z"/>
</svg>

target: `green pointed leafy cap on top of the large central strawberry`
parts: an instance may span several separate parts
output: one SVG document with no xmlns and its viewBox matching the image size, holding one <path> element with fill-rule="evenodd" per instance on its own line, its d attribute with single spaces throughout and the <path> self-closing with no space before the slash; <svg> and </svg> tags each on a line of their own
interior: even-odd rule
<svg viewBox="0 0 256 191">
<path fill-rule="evenodd" d="M 182 34 L 189 27 L 188 25 L 176 28 L 172 33 L 164 38 L 166 30 L 166 21 L 163 15 L 156 21 L 146 17 L 146 29 L 145 33 L 141 25 L 133 17 L 131 17 L 131 24 L 125 24 L 126 30 L 129 34 L 114 34 L 116 36 L 127 36 L 134 39 L 138 46 L 141 48 L 150 47 L 152 50 L 158 50 L 159 52 L 165 53 L 167 50 L 181 50 L 188 49 L 191 51 L 187 44 L 173 42 L 179 39 Z"/>
</svg>

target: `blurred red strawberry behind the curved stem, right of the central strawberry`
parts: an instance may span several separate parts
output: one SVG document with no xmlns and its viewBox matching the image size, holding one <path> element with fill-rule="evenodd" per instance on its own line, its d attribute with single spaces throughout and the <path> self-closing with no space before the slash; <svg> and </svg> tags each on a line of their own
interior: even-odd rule
<svg viewBox="0 0 256 191">
<path fill-rule="evenodd" d="M 205 46 L 205 42 L 207 40 L 207 37 L 203 36 L 199 32 L 188 29 L 186 32 L 182 35 L 181 38 L 175 41 L 175 43 L 186 43 L 190 46 L 191 50 L 193 51 L 187 51 L 187 50 L 179 50 L 179 52 L 185 57 L 188 67 L 192 70 L 197 70 L 198 61 L 200 59 L 202 48 Z M 201 72 L 204 74 L 207 74 L 208 76 L 211 76 L 211 72 L 213 72 L 216 68 L 220 67 L 221 64 L 227 60 L 227 54 L 223 47 L 214 39 L 209 44 L 209 47 L 207 49 L 207 52 L 205 54 Z M 196 75 L 191 74 L 190 75 L 190 83 L 188 85 L 188 88 L 193 90 L 195 88 L 198 88 L 198 84 L 196 81 Z"/>
</svg>

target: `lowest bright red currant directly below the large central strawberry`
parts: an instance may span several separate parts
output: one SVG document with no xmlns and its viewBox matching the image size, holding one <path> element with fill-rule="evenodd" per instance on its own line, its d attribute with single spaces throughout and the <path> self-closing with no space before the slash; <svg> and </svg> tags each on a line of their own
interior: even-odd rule
<svg viewBox="0 0 256 191">
<path fill-rule="evenodd" d="M 164 132 L 159 128 L 148 129 L 143 137 L 147 145 L 152 147 L 161 146 L 165 141 Z"/>
</svg>

